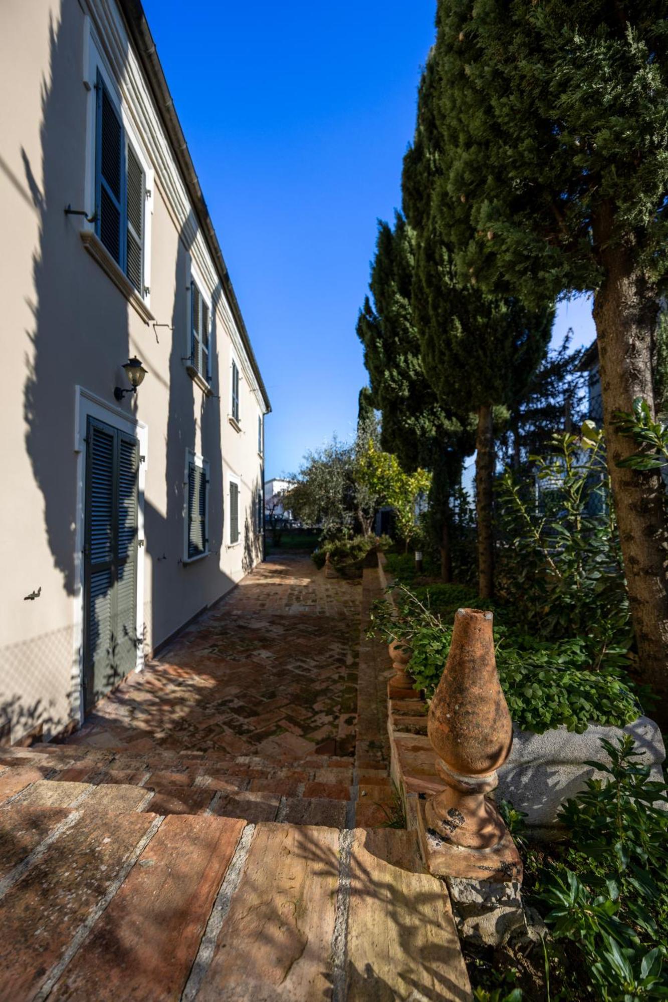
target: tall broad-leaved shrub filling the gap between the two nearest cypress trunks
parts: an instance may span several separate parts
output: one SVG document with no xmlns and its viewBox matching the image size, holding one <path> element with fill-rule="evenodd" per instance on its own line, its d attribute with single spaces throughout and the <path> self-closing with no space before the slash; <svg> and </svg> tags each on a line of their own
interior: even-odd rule
<svg viewBox="0 0 668 1002">
<path fill-rule="evenodd" d="M 527 632 L 546 640 L 584 636 L 593 663 L 629 650 L 629 602 L 603 433 L 558 435 L 532 456 L 524 478 L 497 489 L 497 594 Z"/>
</svg>

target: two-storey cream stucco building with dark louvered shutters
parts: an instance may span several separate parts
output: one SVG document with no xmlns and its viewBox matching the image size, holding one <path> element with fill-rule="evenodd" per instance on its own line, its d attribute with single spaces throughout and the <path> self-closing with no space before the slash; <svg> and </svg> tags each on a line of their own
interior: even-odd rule
<svg viewBox="0 0 668 1002">
<path fill-rule="evenodd" d="M 261 558 L 270 404 L 138 0 L 3 0 L 0 81 L 8 743 Z"/>
</svg>

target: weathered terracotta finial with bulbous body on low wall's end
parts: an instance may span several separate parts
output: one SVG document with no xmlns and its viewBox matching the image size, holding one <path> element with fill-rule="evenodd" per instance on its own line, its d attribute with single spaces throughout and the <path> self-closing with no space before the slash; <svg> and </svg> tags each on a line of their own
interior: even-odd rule
<svg viewBox="0 0 668 1002">
<path fill-rule="evenodd" d="M 428 827 L 465 849 L 499 846 L 508 836 L 485 798 L 508 759 L 513 721 L 496 673 L 492 613 L 458 609 L 445 670 L 434 693 L 427 733 L 445 789 L 425 805 Z"/>
</svg>

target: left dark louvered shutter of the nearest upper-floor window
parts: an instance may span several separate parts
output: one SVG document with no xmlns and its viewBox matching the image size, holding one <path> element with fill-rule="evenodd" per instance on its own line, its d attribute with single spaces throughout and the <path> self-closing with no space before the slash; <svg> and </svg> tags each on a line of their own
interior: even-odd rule
<svg viewBox="0 0 668 1002">
<path fill-rule="evenodd" d="M 95 231 L 113 260 L 122 267 L 123 130 L 99 73 L 95 139 Z"/>
</svg>

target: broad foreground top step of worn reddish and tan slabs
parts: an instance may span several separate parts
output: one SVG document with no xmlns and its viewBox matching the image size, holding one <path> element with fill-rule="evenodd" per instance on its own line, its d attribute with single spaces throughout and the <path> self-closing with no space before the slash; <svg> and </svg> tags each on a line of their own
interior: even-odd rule
<svg viewBox="0 0 668 1002">
<path fill-rule="evenodd" d="M 0 875 L 12 1002 L 470 999 L 406 831 L 13 804 Z"/>
</svg>

